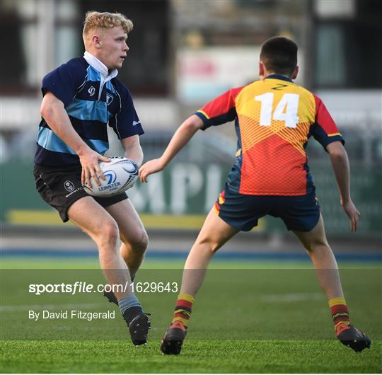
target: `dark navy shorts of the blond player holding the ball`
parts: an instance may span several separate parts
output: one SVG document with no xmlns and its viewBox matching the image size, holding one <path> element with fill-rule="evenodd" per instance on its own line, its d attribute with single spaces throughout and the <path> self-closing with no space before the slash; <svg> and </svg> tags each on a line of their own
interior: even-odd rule
<svg viewBox="0 0 382 375">
<path fill-rule="evenodd" d="M 42 199 L 57 209 L 64 223 L 69 220 L 68 209 L 82 197 L 89 197 L 83 190 L 81 183 L 81 166 L 68 166 L 56 168 L 37 166 L 33 169 L 37 192 Z M 102 207 L 108 207 L 127 199 L 127 194 L 122 192 L 112 197 L 93 197 Z"/>
</svg>

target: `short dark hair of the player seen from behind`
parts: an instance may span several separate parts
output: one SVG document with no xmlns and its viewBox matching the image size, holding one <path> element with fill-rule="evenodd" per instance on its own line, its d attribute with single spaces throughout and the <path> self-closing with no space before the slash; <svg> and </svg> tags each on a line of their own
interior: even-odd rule
<svg viewBox="0 0 382 375">
<path fill-rule="evenodd" d="M 291 76 L 297 65 L 298 49 L 287 37 L 271 37 L 261 46 L 260 60 L 267 70 Z"/>
</svg>

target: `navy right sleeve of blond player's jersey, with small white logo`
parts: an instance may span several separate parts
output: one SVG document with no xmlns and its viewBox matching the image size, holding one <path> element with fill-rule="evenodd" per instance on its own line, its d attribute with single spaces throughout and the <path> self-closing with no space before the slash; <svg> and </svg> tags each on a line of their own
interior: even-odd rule
<svg viewBox="0 0 382 375">
<path fill-rule="evenodd" d="M 144 134 L 129 90 L 122 83 L 118 83 L 117 91 L 120 93 L 121 110 L 110 118 L 109 126 L 117 134 L 118 139 Z"/>
</svg>

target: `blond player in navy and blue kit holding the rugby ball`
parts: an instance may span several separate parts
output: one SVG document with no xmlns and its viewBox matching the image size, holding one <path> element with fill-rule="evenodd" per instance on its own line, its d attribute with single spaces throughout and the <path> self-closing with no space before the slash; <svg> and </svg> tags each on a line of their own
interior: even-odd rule
<svg viewBox="0 0 382 375">
<path fill-rule="evenodd" d="M 146 251 L 148 237 L 125 192 L 91 197 L 83 184 L 105 178 L 98 162 L 108 150 L 108 125 L 138 165 L 143 161 L 139 135 L 144 131 L 129 90 L 116 77 L 127 56 L 127 34 L 133 24 L 120 13 L 86 13 L 85 53 L 62 64 L 42 79 L 42 105 L 35 183 L 62 221 L 72 221 L 96 242 L 100 266 L 120 306 L 134 345 L 146 345 L 150 321 L 130 285 Z M 119 248 L 119 241 L 122 245 Z"/>
</svg>

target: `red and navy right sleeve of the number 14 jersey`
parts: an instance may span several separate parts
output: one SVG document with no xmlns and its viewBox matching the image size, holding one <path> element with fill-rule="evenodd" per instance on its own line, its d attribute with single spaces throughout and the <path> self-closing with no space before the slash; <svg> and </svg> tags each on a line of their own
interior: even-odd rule
<svg viewBox="0 0 382 375">
<path fill-rule="evenodd" d="M 332 116 L 323 101 L 314 95 L 316 100 L 316 122 L 311 126 L 311 135 L 323 146 L 324 149 L 332 142 L 340 141 L 345 144 L 342 134 L 335 125 Z"/>
</svg>

